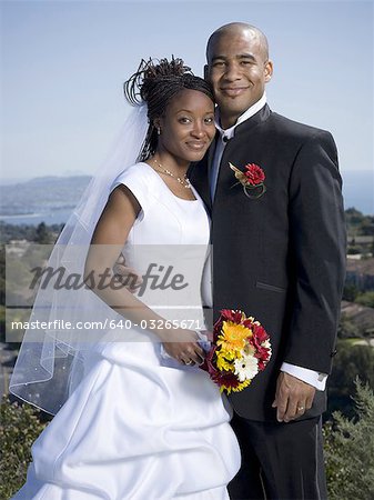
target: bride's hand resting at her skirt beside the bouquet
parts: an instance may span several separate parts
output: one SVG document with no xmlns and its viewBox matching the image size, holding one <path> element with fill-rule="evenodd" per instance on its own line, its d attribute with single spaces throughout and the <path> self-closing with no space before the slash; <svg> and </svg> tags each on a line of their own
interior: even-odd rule
<svg viewBox="0 0 374 500">
<path fill-rule="evenodd" d="M 170 330 L 162 343 L 168 354 L 182 364 L 201 364 L 204 361 L 204 351 L 192 330 Z"/>
</svg>

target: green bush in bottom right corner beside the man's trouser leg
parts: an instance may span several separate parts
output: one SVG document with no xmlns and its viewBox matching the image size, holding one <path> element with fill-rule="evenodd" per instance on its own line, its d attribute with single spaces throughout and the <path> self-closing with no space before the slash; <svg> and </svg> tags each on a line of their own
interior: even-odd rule
<svg viewBox="0 0 374 500">
<path fill-rule="evenodd" d="M 335 412 L 324 426 L 330 500 L 374 498 L 374 393 L 355 382 L 355 418 Z"/>
</svg>

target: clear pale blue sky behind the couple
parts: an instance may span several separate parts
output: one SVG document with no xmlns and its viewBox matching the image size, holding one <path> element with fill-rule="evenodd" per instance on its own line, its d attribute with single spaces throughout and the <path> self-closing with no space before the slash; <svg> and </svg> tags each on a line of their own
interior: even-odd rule
<svg viewBox="0 0 374 500">
<path fill-rule="evenodd" d="M 373 1 L 2 0 L 0 180 L 93 173 L 140 60 L 174 54 L 202 74 L 210 33 L 231 21 L 269 38 L 271 109 L 330 130 L 343 173 L 373 172 Z"/>
</svg>

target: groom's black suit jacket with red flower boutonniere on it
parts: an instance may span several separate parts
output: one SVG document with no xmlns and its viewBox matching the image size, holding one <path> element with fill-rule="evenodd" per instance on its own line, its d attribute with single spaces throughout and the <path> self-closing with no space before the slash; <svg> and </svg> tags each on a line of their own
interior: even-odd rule
<svg viewBox="0 0 374 500">
<path fill-rule="evenodd" d="M 265 106 L 228 142 L 212 203 L 213 152 L 214 144 L 191 167 L 190 179 L 212 216 L 214 318 L 226 308 L 254 316 L 273 350 L 265 371 L 230 399 L 242 417 L 274 420 L 271 404 L 283 361 L 331 371 L 346 242 L 337 152 L 328 132 Z M 249 199 L 229 162 L 240 170 L 260 166 L 266 192 Z M 317 391 L 303 418 L 324 409 L 325 393 Z"/>
</svg>

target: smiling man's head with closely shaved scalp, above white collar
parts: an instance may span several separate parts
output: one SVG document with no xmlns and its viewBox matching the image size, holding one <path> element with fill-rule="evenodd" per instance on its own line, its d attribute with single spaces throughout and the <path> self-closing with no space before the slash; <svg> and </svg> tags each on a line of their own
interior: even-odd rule
<svg viewBox="0 0 374 500">
<path fill-rule="evenodd" d="M 205 77 L 213 86 L 223 128 L 233 126 L 263 96 L 272 76 L 266 56 L 260 38 L 250 30 L 231 30 L 211 40 Z"/>
</svg>

